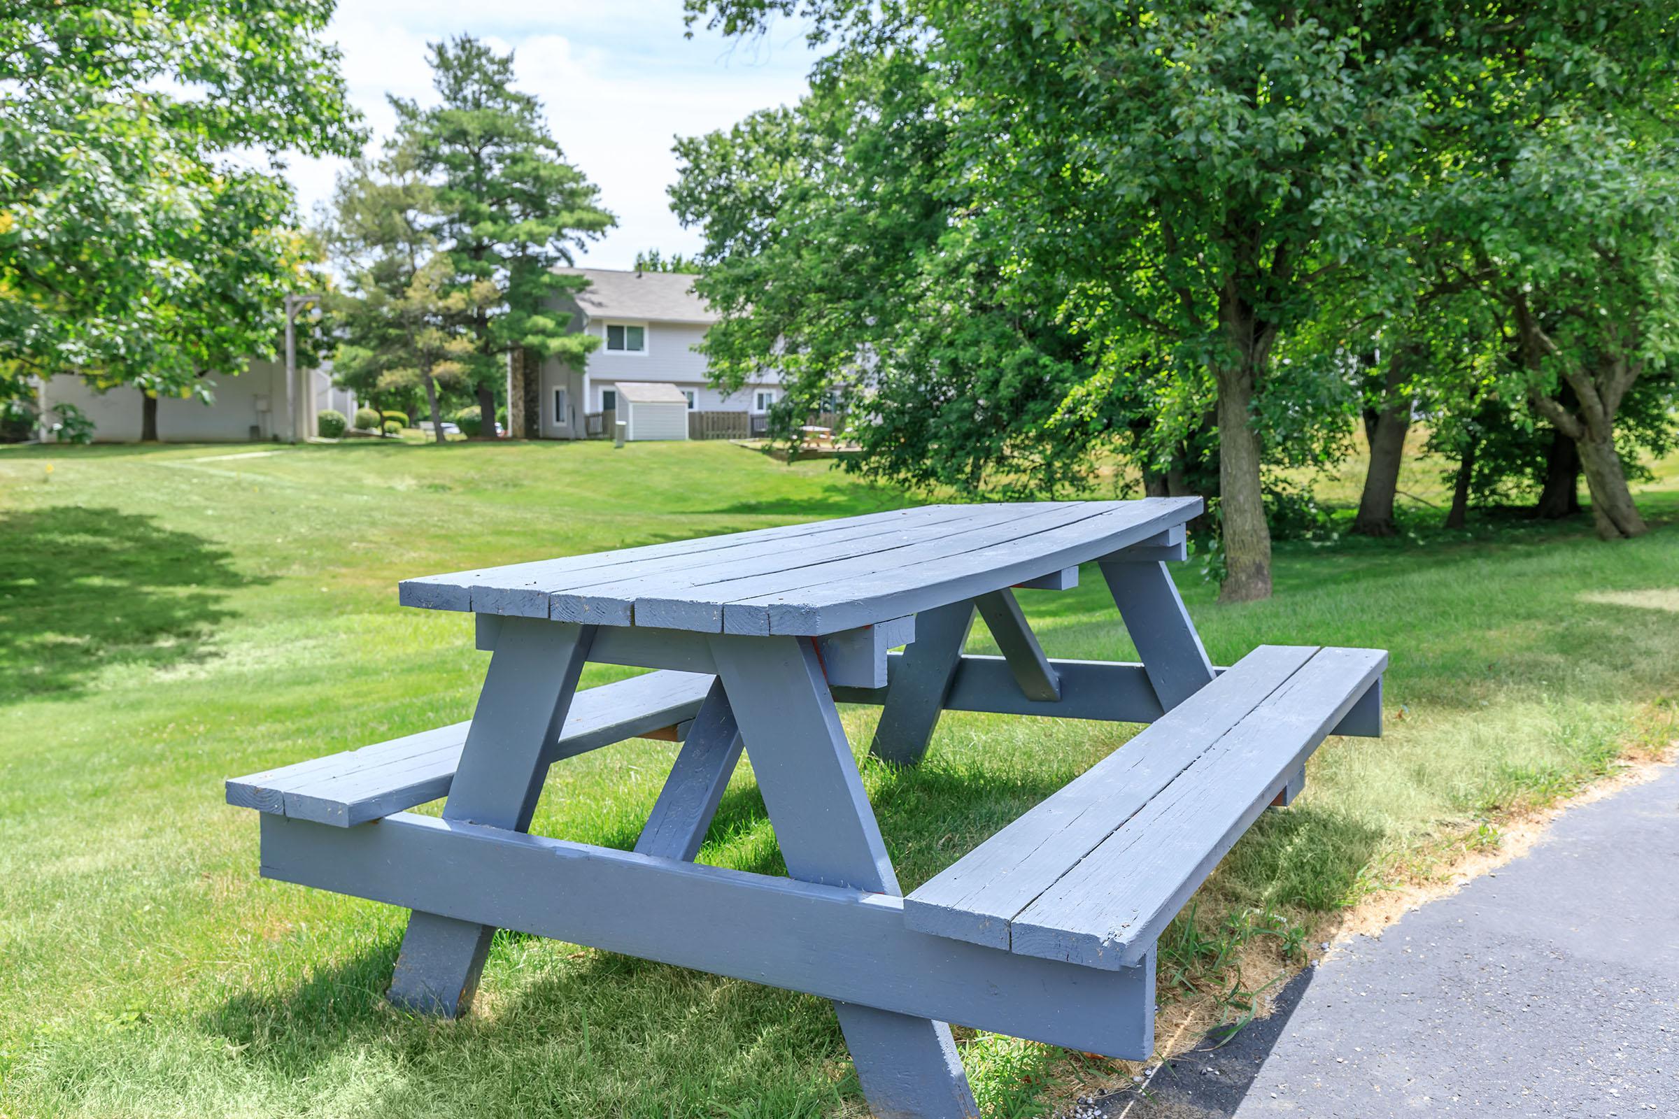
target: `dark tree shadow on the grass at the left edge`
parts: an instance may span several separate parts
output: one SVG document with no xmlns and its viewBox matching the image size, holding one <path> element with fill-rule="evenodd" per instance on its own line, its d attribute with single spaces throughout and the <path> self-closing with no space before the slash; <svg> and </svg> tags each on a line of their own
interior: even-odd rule
<svg viewBox="0 0 1679 1119">
<path fill-rule="evenodd" d="M 0 518 L 0 698 L 76 695 L 102 669 L 205 656 L 227 592 L 260 582 L 154 517 L 57 505 Z"/>
</svg>

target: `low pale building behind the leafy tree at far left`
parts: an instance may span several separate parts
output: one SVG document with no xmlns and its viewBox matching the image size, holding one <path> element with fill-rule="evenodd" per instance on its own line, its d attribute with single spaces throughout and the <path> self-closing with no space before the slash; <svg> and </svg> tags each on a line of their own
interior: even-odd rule
<svg viewBox="0 0 1679 1119">
<path fill-rule="evenodd" d="M 158 438 L 165 443 L 242 443 L 252 440 L 304 440 L 316 435 L 316 416 L 332 408 L 356 414 L 356 394 L 332 386 L 331 369 L 299 369 L 290 396 L 285 366 L 252 359 L 238 374 L 205 377 L 213 401 L 158 398 Z M 54 408 L 74 404 L 94 423 L 96 443 L 139 440 L 141 393 L 128 386 L 99 393 L 86 377 L 60 376 L 39 384 L 37 399 L 49 424 Z M 289 401 L 289 403 L 287 403 Z"/>
</svg>

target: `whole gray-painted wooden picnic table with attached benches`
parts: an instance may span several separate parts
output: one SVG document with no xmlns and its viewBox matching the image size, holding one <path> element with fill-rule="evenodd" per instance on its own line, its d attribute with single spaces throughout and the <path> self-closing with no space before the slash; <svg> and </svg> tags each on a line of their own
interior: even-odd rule
<svg viewBox="0 0 1679 1119">
<path fill-rule="evenodd" d="M 472 720 L 227 799 L 264 814 L 264 877 L 413 911 L 403 1007 L 465 1012 L 520 929 L 829 998 L 876 1116 L 972 1116 L 947 1023 L 1147 1059 L 1165 924 L 1326 735 L 1380 733 L 1382 651 L 1209 663 L 1167 570 L 1199 512 L 932 505 L 411 579 L 405 604 L 477 616 Z M 1048 658 L 1026 624 L 1014 589 L 1086 562 L 1140 664 Z M 975 611 L 1002 656 L 962 651 Z M 578 691 L 588 661 L 655 671 Z M 945 710 L 1148 726 L 902 896 L 836 703 L 880 705 L 898 765 Z M 633 736 L 682 743 L 635 851 L 529 834 L 549 765 Z M 742 748 L 789 877 L 693 862 Z"/>
</svg>

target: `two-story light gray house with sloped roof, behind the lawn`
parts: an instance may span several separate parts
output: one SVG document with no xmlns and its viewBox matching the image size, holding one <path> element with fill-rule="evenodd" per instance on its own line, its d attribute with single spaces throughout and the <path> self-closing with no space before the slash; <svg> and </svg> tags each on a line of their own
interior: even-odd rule
<svg viewBox="0 0 1679 1119">
<path fill-rule="evenodd" d="M 615 268 L 557 272 L 589 278 L 576 297 L 556 299 L 554 309 L 571 314 L 571 330 L 593 334 L 601 344 L 581 369 L 554 357 L 510 362 L 507 426 L 514 438 L 586 438 L 589 414 L 616 411 L 621 381 L 675 384 L 690 411 L 762 414 L 779 399 L 776 372 L 729 394 L 710 386 L 705 357 L 693 347 L 717 315 L 693 292 L 697 277 Z"/>
</svg>

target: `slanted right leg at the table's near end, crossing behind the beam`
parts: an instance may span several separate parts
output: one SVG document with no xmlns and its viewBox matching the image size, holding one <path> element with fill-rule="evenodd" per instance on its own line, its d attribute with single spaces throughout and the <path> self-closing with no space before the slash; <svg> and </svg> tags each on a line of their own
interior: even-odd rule
<svg viewBox="0 0 1679 1119">
<path fill-rule="evenodd" d="M 964 636 L 970 616 L 969 606 L 959 626 Z M 740 720 L 787 872 L 806 882 L 898 894 L 814 643 L 712 638 L 712 656 Z M 866 946 L 860 953 L 866 956 Z M 834 1013 L 875 1116 L 979 1114 L 949 1025 L 840 1002 Z"/>
</svg>

